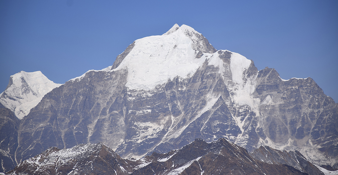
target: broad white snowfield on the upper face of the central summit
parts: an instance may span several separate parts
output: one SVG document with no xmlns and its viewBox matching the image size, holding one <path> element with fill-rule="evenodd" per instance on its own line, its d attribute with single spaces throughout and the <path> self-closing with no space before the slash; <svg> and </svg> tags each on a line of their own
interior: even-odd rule
<svg viewBox="0 0 338 175">
<path fill-rule="evenodd" d="M 201 45 L 198 42 L 201 38 L 205 39 L 193 28 L 175 24 L 164 35 L 136 40 L 135 46 L 113 71 L 127 69 L 126 86 L 137 90 L 153 89 L 176 76 L 187 78 L 216 51 Z M 208 54 L 196 59 L 197 48 Z"/>
</svg>

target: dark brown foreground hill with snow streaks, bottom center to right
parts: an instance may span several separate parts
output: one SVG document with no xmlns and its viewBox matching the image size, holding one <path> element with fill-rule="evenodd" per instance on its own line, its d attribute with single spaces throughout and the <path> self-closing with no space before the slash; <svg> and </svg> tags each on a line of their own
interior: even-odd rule
<svg viewBox="0 0 338 175">
<path fill-rule="evenodd" d="M 224 138 L 210 143 L 196 139 L 181 149 L 153 153 L 144 160 L 150 163 L 139 165 L 142 168 L 134 174 L 306 174 L 291 166 L 257 161 L 246 149 Z"/>
</svg>

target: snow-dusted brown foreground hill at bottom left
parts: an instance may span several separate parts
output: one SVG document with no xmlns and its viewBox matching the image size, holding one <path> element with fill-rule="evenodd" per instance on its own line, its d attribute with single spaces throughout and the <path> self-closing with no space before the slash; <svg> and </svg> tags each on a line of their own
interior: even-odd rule
<svg viewBox="0 0 338 175">
<path fill-rule="evenodd" d="M 48 148 L 30 158 L 8 174 L 128 174 L 131 165 L 102 143 L 80 144 L 70 149 Z"/>
</svg>

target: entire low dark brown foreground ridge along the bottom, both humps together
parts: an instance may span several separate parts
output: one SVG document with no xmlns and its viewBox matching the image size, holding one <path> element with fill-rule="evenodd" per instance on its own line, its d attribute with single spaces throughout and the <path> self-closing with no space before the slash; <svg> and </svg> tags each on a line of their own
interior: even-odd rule
<svg viewBox="0 0 338 175">
<path fill-rule="evenodd" d="M 51 147 L 20 163 L 9 175 L 174 175 L 174 174 L 295 174 L 305 175 L 291 166 L 267 164 L 253 159 L 246 149 L 226 139 L 204 142 L 196 139 L 181 149 L 144 159 L 122 159 L 112 149 L 98 144 L 80 144 L 70 149 Z"/>
</svg>

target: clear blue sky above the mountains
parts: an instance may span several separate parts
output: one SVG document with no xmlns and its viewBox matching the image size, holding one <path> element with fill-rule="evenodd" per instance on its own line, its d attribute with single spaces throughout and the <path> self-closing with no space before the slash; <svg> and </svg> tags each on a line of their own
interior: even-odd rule
<svg viewBox="0 0 338 175">
<path fill-rule="evenodd" d="M 175 23 L 216 49 L 313 78 L 338 103 L 338 1 L 0 1 L 0 91 L 9 76 L 40 70 L 65 83 L 113 64 L 134 40 Z"/>
</svg>

